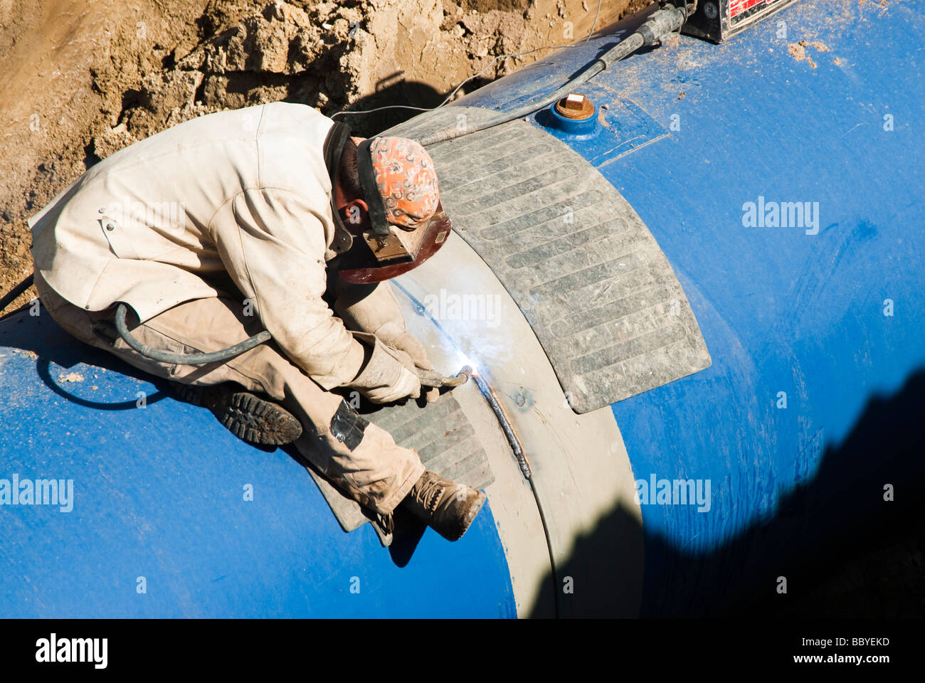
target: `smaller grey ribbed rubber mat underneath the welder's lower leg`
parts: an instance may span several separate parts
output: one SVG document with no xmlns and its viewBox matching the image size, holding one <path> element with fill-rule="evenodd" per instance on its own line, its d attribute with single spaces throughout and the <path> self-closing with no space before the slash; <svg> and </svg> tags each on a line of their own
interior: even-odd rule
<svg viewBox="0 0 925 683">
<path fill-rule="evenodd" d="M 495 476 L 488 457 L 475 438 L 475 429 L 450 393 L 424 408 L 413 401 L 387 405 L 364 416 L 377 427 L 388 430 L 396 443 L 413 448 L 421 462 L 441 477 L 467 484 L 476 490 L 487 487 Z M 344 497 L 311 467 L 307 468 L 325 496 L 344 531 L 352 531 L 370 521 L 363 508 Z M 396 515 L 396 525 L 400 520 Z M 377 524 L 373 525 L 383 545 L 392 541 Z"/>
</svg>

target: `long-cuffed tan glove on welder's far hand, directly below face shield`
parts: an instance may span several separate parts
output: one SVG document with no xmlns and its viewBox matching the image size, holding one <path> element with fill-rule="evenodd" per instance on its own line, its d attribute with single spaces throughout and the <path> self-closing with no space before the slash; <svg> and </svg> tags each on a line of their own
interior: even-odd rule
<svg viewBox="0 0 925 683">
<path fill-rule="evenodd" d="M 387 346 L 410 355 L 415 366 L 434 369 L 424 346 L 406 331 L 401 306 L 388 282 L 373 286 L 339 282 L 334 308 L 347 329 L 375 334 Z"/>
</svg>

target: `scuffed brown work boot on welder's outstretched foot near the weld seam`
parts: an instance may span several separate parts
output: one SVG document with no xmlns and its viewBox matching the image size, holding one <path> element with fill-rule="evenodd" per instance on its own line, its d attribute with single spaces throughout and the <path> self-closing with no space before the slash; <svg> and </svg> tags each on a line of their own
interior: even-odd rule
<svg viewBox="0 0 925 683">
<path fill-rule="evenodd" d="M 459 540 L 485 501 L 485 493 L 428 469 L 401 504 L 444 539 Z"/>
</svg>

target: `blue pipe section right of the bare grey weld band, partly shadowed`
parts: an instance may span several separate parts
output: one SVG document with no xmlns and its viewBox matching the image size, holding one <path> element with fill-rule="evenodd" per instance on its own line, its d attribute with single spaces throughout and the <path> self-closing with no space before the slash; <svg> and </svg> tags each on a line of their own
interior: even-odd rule
<svg viewBox="0 0 925 683">
<path fill-rule="evenodd" d="M 773 596 L 801 554 L 892 514 L 889 487 L 918 498 L 922 10 L 810 0 L 727 43 L 683 37 L 580 88 L 614 112 L 610 130 L 546 129 L 646 222 L 712 358 L 613 405 L 637 480 L 711 483 L 709 513 L 642 506 L 643 614 Z M 639 20 L 461 104 L 517 106 Z M 773 221 L 783 202 L 813 220 Z"/>
</svg>

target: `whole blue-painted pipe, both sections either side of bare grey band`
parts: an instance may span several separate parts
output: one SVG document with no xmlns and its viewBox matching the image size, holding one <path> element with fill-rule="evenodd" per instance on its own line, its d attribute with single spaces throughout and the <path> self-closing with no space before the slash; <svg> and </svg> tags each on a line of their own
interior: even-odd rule
<svg viewBox="0 0 925 683">
<path fill-rule="evenodd" d="M 581 614 L 547 593 L 629 554 L 616 528 L 641 533 L 642 564 L 614 605 L 729 614 L 892 523 L 923 479 L 923 9 L 800 0 L 722 44 L 681 36 L 598 74 L 578 89 L 597 107 L 587 134 L 529 118 L 642 219 L 710 359 L 612 404 L 642 504 L 550 549 L 532 598 L 527 540 L 502 510 L 516 487 L 496 461 L 500 483 L 463 540 L 422 531 L 385 549 L 369 525 L 342 531 L 290 455 L 237 441 L 32 306 L 0 321 L 0 615 Z M 504 112 L 552 92 L 643 19 L 448 109 Z M 490 378 L 492 356 L 478 360 Z M 71 495 L 13 505 L 14 478 Z M 705 503 L 660 500 L 660 480 L 677 479 Z M 548 505 L 550 544 L 556 514 Z M 607 612 L 606 592 L 594 601 Z"/>
</svg>

